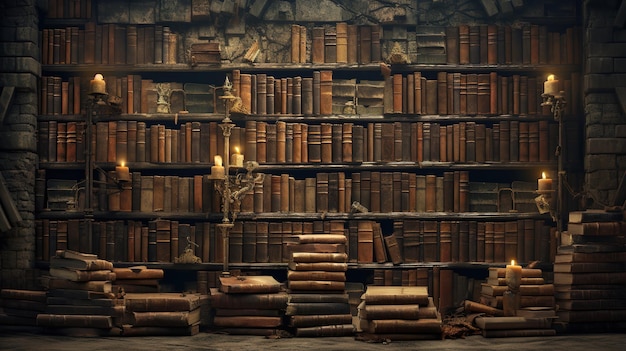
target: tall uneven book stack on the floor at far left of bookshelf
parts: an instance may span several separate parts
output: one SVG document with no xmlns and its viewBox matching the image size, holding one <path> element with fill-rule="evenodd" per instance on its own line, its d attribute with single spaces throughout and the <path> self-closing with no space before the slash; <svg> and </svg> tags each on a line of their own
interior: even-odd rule
<svg viewBox="0 0 626 351">
<path fill-rule="evenodd" d="M 118 335 L 124 317 L 122 293 L 112 290 L 113 264 L 96 255 L 59 250 L 50 258 L 46 309 L 37 325 L 68 335 Z"/>
</svg>

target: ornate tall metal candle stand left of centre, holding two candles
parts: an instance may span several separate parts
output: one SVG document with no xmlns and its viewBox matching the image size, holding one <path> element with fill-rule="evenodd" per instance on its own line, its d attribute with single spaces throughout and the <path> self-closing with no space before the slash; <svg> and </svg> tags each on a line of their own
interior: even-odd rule
<svg viewBox="0 0 626 351">
<path fill-rule="evenodd" d="M 219 125 L 224 135 L 224 175 L 213 178 L 216 180 L 215 189 L 222 197 L 222 222 L 217 224 L 217 228 L 223 237 L 224 265 L 222 276 L 230 276 L 228 266 L 230 231 L 237 218 L 241 199 L 252 191 L 254 184 L 262 183 L 265 177 L 264 174 L 255 174 L 254 170 L 259 164 L 253 161 L 248 161 L 244 164 L 245 173 L 230 175 L 230 135 L 235 126 L 230 119 L 230 109 L 239 99 L 237 96 L 233 95 L 232 89 L 233 85 L 228 77 L 226 77 L 223 86 L 224 94 L 220 96 L 220 99 L 224 103 L 224 119 L 222 119 Z"/>
</svg>

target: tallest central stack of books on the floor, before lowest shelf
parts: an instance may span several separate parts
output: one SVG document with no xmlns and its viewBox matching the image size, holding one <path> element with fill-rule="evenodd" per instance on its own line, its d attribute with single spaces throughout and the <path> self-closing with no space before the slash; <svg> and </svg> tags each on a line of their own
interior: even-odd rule
<svg viewBox="0 0 626 351">
<path fill-rule="evenodd" d="M 341 234 L 304 234 L 289 245 L 286 315 L 296 336 L 354 334 L 346 292 L 345 243 Z"/>
</svg>

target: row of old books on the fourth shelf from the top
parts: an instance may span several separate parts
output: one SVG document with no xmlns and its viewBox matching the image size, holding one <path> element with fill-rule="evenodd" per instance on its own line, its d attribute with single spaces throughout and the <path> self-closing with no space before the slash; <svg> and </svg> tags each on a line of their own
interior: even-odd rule
<svg viewBox="0 0 626 351">
<path fill-rule="evenodd" d="M 132 172 L 131 181 L 119 187 L 109 180 L 115 179 L 115 171 L 99 175 L 94 207 L 100 211 L 169 215 L 221 211 L 222 198 L 215 190 L 215 179 L 208 174 L 185 177 Z M 470 182 L 468 171 L 443 175 L 319 172 L 299 179 L 287 173 L 265 174 L 234 206 L 242 213 L 350 213 L 363 208 L 374 213 L 536 213 L 536 188 L 534 182 Z M 44 209 L 84 208 L 84 193 L 75 181 L 48 179 L 44 189 L 44 194 L 38 194 L 46 204 Z"/>
</svg>

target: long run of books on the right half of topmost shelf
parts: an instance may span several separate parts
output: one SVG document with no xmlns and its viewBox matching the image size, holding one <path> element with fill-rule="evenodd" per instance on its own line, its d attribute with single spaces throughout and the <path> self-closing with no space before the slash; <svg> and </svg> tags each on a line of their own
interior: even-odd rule
<svg viewBox="0 0 626 351">
<path fill-rule="evenodd" d="M 417 26 L 415 31 L 402 32 L 338 22 L 311 29 L 309 59 L 307 28 L 292 25 L 291 62 L 363 64 L 387 59 L 394 63 L 390 56 L 397 52 L 389 44 L 393 42 L 400 43 L 397 46 L 406 55 L 406 62 L 396 63 L 577 64 L 581 34 L 577 27 L 551 32 L 547 26 L 534 24 Z"/>
</svg>

